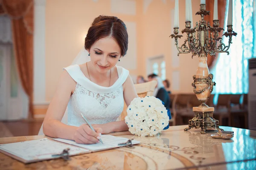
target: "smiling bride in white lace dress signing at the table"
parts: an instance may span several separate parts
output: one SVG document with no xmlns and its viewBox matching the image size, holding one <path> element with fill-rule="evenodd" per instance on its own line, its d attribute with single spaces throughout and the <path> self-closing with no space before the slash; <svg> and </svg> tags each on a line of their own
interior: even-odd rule
<svg viewBox="0 0 256 170">
<path fill-rule="evenodd" d="M 116 119 L 122 113 L 124 100 L 130 105 L 138 96 L 129 71 L 116 66 L 128 49 L 128 33 L 122 20 L 97 17 L 87 32 L 84 48 L 87 56 L 81 53 L 75 62 L 87 62 L 70 65 L 61 74 L 44 118 L 43 132 L 53 138 L 93 144 L 99 142 L 101 133 L 128 130 L 125 121 Z M 67 123 L 61 121 L 64 113 Z"/>
</svg>

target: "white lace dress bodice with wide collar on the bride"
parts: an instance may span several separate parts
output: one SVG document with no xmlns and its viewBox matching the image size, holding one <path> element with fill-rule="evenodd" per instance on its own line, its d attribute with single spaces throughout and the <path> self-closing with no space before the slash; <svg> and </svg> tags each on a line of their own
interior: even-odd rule
<svg viewBox="0 0 256 170">
<path fill-rule="evenodd" d="M 124 106 L 122 84 L 129 71 L 116 66 L 119 78 L 111 87 L 103 87 L 84 76 L 79 65 L 64 68 L 77 82 L 76 89 L 67 106 L 67 125 L 80 126 L 85 123 L 81 113 L 91 124 L 114 122 Z"/>
</svg>

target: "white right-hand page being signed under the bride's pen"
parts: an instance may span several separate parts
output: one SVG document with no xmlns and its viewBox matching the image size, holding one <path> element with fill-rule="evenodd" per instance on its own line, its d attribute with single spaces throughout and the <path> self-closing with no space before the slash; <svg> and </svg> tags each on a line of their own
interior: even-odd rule
<svg viewBox="0 0 256 170">
<path fill-rule="evenodd" d="M 60 138 L 57 138 L 54 140 L 64 142 L 67 144 L 72 144 L 72 145 L 79 146 L 79 147 L 84 147 L 84 148 L 92 150 L 92 151 L 107 150 L 107 149 L 111 149 L 111 148 L 115 148 L 115 147 L 120 147 L 118 145 L 119 143 L 128 141 L 127 138 L 116 137 L 116 136 L 111 136 L 111 135 L 102 135 L 101 139 L 102 139 L 103 144 L 101 142 L 99 142 L 97 144 L 78 144 L 75 141 L 67 140 L 67 139 L 60 139 Z M 139 141 L 132 140 L 132 144 L 139 144 L 139 143 L 140 143 Z"/>
</svg>

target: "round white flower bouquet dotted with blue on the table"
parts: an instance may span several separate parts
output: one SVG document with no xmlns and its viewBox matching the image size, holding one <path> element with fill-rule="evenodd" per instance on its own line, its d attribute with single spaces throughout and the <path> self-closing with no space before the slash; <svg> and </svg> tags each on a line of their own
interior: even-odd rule
<svg viewBox="0 0 256 170">
<path fill-rule="evenodd" d="M 169 116 L 160 99 L 154 96 L 137 97 L 127 108 L 125 122 L 134 135 L 156 136 L 169 125 Z"/>
</svg>

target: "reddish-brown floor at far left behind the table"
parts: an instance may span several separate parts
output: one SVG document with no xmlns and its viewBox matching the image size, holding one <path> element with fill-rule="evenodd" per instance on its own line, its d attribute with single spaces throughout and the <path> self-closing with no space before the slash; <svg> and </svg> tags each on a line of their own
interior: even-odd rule
<svg viewBox="0 0 256 170">
<path fill-rule="evenodd" d="M 37 135 L 43 119 L 34 121 L 2 121 L 0 122 L 0 137 Z"/>
</svg>

